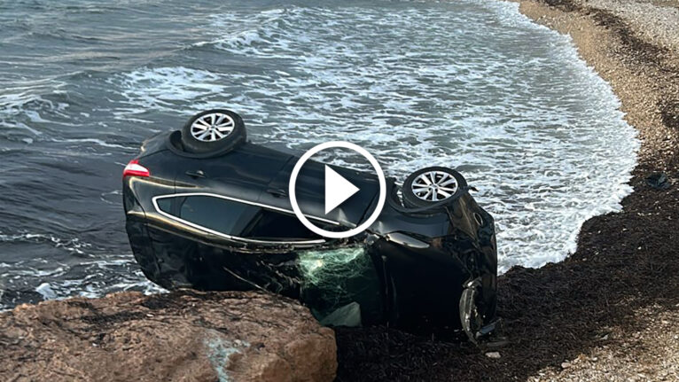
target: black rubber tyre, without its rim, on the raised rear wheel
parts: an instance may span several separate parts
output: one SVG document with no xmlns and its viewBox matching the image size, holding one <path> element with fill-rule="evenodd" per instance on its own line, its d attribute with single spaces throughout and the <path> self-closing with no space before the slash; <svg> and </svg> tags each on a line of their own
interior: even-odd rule
<svg viewBox="0 0 679 382">
<path fill-rule="evenodd" d="M 227 114 L 233 119 L 234 127 L 233 130 L 222 139 L 214 142 L 203 142 L 196 139 L 191 135 L 191 125 L 194 121 L 202 117 L 203 115 L 209 113 L 222 113 Z M 206 154 L 212 152 L 228 152 L 230 149 L 236 147 L 238 144 L 242 144 L 246 141 L 246 124 L 240 115 L 231 112 L 227 109 L 213 109 L 207 110 L 205 112 L 198 113 L 191 117 L 191 119 L 183 125 L 182 128 L 182 145 L 186 152 L 191 152 L 194 154 Z"/>
</svg>

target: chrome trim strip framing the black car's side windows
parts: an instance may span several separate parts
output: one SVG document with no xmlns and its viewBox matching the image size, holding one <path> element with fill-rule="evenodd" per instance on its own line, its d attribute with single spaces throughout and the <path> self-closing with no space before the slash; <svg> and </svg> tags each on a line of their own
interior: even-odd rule
<svg viewBox="0 0 679 382">
<path fill-rule="evenodd" d="M 204 230 L 208 233 L 211 233 L 215 236 L 218 236 L 220 238 L 228 238 L 230 240 L 236 240 L 236 241 L 242 241 L 246 243 L 257 243 L 257 244 L 290 244 L 290 245 L 305 245 L 305 244 L 323 244 L 325 243 L 324 238 L 317 238 L 314 240 L 296 240 L 296 241 L 277 241 L 277 240 L 258 240 L 255 238 L 241 238 L 238 236 L 232 236 L 228 235 L 226 233 L 222 233 L 217 230 L 211 230 L 207 227 L 203 227 L 202 225 L 196 224 L 194 222 L 189 222 L 187 220 L 182 219 L 181 217 L 175 216 L 174 214 L 168 214 L 165 211 L 162 211 L 160 207 L 158 207 L 158 199 L 167 199 L 167 198 L 182 198 L 182 197 L 190 197 L 190 196 L 207 196 L 207 197 L 212 197 L 212 198 L 219 198 L 219 199 L 226 199 L 226 200 L 231 200 L 235 201 L 237 203 L 243 203 L 247 204 L 250 206 L 256 206 L 256 207 L 262 207 L 274 211 L 279 211 L 279 212 L 285 212 L 288 214 L 294 214 L 292 210 L 287 210 L 285 208 L 280 208 L 280 207 L 274 207 L 274 206 L 269 206 L 261 203 L 256 203 L 253 201 L 249 200 L 244 200 L 244 199 L 238 199 L 238 198 L 231 198 L 223 195 L 218 195 L 210 192 L 183 192 L 183 193 L 174 193 L 174 194 L 166 194 L 166 195 L 158 195 L 152 198 L 152 203 L 153 203 L 153 208 L 155 208 L 156 212 L 158 214 L 161 214 L 165 217 L 168 217 L 169 219 L 175 220 L 177 222 L 182 222 L 183 224 L 186 224 L 192 228 L 198 229 L 198 230 Z M 332 220 L 324 219 L 321 217 L 316 217 L 316 216 L 311 216 L 308 215 L 310 219 L 315 219 L 321 222 L 328 222 L 331 224 L 339 225 L 339 222 L 334 222 Z"/>
</svg>

